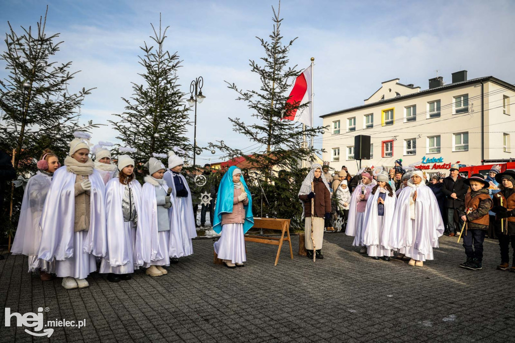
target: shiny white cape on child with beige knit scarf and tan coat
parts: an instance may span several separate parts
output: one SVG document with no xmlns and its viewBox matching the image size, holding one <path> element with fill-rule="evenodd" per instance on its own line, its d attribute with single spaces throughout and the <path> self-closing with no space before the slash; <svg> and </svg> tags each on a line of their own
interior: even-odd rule
<svg viewBox="0 0 515 343">
<path fill-rule="evenodd" d="M 40 226 L 43 230 L 38 258 L 45 261 L 64 261 L 74 255 L 74 249 L 104 257 L 107 249 L 105 185 L 98 171 L 89 176 L 90 228 L 82 247 L 74 247 L 76 175 L 62 166 L 54 173 L 52 185 L 43 207 Z"/>
</svg>

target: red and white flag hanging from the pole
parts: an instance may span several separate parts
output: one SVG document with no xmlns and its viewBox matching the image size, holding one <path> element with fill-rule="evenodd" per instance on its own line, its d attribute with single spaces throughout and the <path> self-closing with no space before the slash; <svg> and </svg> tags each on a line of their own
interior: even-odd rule
<svg viewBox="0 0 515 343">
<path fill-rule="evenodd" d="M 293 90 L 291 90 L 289 99 L 288 101 L 286 101 L 288 104 L 291 104 L 293 106 L 303 105 L 308 101 L 310 103 L 307 105 L 307 107 L 288 111 L 288 113 L 283 117 L 283 119 L 287 119 L 289 121 L 294 122 L 300 122 L 307 126 L 313 126 L 313 92 L 311 89 L 311 77 L 312 68 L 310 65 L 302 72 L 302 74 L 297 76 Z"/>
</svg>

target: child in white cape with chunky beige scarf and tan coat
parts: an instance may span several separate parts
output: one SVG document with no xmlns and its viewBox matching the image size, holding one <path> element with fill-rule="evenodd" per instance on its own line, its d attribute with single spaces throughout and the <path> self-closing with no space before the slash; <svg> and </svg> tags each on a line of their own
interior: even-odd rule
<svg viewBox="0 0 515 343">
<path fill-rule="evenodd" d="M 106 255 L 105 185 L 88 157 L 85 132 L 76 132 L 64 166 L 54 173 L 41 217 L 38 258 L 56 259 L 56 274 L 66 289 L 88 287 L 95 256 Z"/>
</svg>

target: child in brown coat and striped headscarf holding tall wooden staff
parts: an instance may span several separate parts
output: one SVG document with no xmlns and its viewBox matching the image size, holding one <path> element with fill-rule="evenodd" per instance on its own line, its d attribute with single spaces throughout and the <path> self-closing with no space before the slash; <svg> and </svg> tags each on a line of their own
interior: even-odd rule
<svg viewBox="0 0 515 343">
<path fill-rule="evenodd" d="M 320 164 L 314 163 L 311 166 L 310 172 L 300 186 L 299 199 L 304 204 L 304 245 L 307 257 L 313 259 L 313 254 L 315 254 L 317 259 L 323 259 L 324 218 L 331 216 L 331 192 L 329 191 L 329 184 L 322 174 L 322 166 Z"/>
</svg>

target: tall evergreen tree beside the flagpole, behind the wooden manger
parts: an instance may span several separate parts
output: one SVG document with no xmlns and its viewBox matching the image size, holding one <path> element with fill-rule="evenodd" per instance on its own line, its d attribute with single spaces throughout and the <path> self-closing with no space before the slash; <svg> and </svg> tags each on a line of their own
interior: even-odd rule
<svg viewBox="0 0 515 343">
<path fill-rule="evenodd" d="M 301 203 L 297 194 L 300 190 L 305 170 L 301 170 L 301 161 L 310 160 L 316 152 L 313 147 L 303 144 L 301 125 L 289 120 L 283 121 L 285 113 L 295 108 L 303 108 L 307 104 L 287 104 L 291 84 L 301 73 L 297 66 L 290 67 L 288 52 L 293 45 L 293 39 L 283 45 L 281 36 L 280 4 L 279 9 L 273 9 L 273 30 L 270 41 L 263 38 L 258 40 L 265 50 L 265 56 L 259 64 L 250 60 L 250 67 L 261 80 L 259 90 L 244 91 L 229 83 L 229 88 L 239 95 L 237 100 L 248 103 L 252 116 L 257 118 L 256 124 L 246 124 L 240 118 L 229 118 L 233 130 L 242 133 L 248 141 L 260 144 L 254 153 L 248 155 L 240 149 L 228 147 L 225 144 L 214 144 L 226 153 L 228 158 L 244 157 L 246 165 L 259 171 L 261 184 L 267 195 L 268 202 L 263 201 L 263 215 L 279 218 L 291 218 L 292 227 L 300 227 Z M 307 128 L 307 136 L 321 131 L 321 127 Z M 279 173 L 280 170 L 283 170 Z M 252 178 L 251 178 L 252 180 Z M 261 214 L 261 187 L 254 180 L 249 182 L 254 199 L 254 214 Z"/>
</svg>

